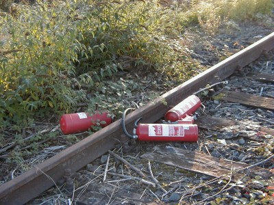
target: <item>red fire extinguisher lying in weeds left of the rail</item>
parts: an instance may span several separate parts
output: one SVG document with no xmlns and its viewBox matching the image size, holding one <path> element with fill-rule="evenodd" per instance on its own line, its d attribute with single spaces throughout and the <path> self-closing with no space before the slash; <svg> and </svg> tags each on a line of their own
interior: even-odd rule
<svg viewBox="0 0 274 205">
<path fill-rule="evenodd" d="M 60 128 L 64 135 L 72 133 L 81 133 L 88 131 L 92 126 L 105 127 L 112 123 L 112 116 L 107 112 L 95 113 L 90 115 L 89 113 L 73 113 L 62 115 L 60 120 Z"/>
</svg>

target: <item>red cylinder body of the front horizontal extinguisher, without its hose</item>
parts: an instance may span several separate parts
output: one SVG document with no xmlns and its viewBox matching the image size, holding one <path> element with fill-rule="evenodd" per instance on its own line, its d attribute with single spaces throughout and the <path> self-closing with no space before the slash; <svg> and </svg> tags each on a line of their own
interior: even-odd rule
<svg viewBox="0 0 274 205">
<path fill-rule="evenodd" d="M 197 124 L 138 124 L 140 141 L 197 141 Z"/>
</svg>

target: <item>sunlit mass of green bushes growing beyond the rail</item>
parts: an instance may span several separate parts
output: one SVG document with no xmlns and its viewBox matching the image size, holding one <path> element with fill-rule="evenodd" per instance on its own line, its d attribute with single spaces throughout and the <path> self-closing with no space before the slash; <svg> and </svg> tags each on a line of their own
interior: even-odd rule
<svg viewBox="0 0 274 205">
<path fill-rule="evenodd" d="M 12 5 L 0 16 L 0 121 L 27 124 L 89 102 L 86 95 L 97 92 L 97 82 L 125 68 L 123 57 L 133 59 L 134 69 L 184 81 L 201 69 L 186 51 L 187 27 L 214 34 L 225 18 L 253 18 L 271 8 L 271 0 L 191 1 L 168 8 L 127 0 Z"/>
</svg>

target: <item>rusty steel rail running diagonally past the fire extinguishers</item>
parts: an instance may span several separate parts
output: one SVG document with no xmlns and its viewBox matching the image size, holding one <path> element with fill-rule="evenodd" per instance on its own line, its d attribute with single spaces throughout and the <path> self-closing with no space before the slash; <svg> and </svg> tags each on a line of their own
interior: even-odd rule
<svg viewBox="0 0 274 205">
<path fill-rule="evenodd" d="M 274 49 L 274 32 L 251 44 L 246 49 L 228 57 L 205 72 L 182 83 L 173 90 L 162 95 L 168 105 L 177 105 L 208 83 L 216 83 L 229 77 L 235 70 L 247 66 L 258 59 L 260 55 Z M 150 102 L 145 107 L 127 115 L 126 126 L 133 128 L 137 118 L 143 122 L 155 122 L 164 116 L 169 108 L 161 100 Z M 0 204 L 24 204 L 43 191 L 55 185 L 64 176 L 64 169 L 70 168 L 76 172 L 99 156 L 114 148 L 116 143 L 123 140 L 121 119 L 101 129 L 75 145 L 40 163 L 29 171 L 17 176 L 0 187 Z"/>
</svg>

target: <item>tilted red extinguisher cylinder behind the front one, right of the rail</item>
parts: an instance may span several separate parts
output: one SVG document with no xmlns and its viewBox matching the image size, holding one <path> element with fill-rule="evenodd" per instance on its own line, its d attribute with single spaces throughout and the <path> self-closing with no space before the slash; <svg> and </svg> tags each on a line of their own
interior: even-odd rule
<svg viewBox="0 0 274 205">
<path fill-rule="evenodd" d="M 182 120 L 186 118 L 186 115 L 194 113 L 199 107 L 201 107 L 201 100 L 195 95 L 188 96 L 188 98 L 167 111 L 164 115 L 164 120 L 171 122 Z"/>
</svg>

